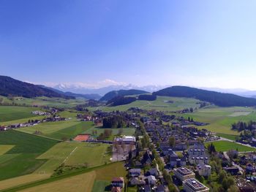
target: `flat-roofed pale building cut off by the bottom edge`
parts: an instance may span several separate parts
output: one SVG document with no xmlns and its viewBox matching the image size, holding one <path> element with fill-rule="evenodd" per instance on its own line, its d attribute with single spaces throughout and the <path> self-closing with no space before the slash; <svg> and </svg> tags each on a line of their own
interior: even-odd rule
<svg viewBox="0 0 256 192">
<path fill-rule="evenodd" d="M 184 191 L 186 192 L 208 192 L 210 191 L 205 185 L 199 181 L 193 179 L 188 179 L 184 181 Z"/>
</svg>

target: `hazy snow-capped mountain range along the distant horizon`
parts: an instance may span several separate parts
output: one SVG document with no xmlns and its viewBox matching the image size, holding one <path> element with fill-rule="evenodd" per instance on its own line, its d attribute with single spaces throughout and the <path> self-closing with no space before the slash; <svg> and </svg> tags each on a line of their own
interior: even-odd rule
<svg viewBox="0 0 256 192">
<path fill-rule="evenodd" d="M 99 94 L 100 96 L 104 96 L 106 93 L 113 91 L 113 90 L 130 90 L 130 89 L 136 89 L 136 90 L 142 90 L 147 92 L 154 92 L 159 91 L 162 88 L 170 87 L 170 85 L 146 85 L 146 86 L 138 86 L 138 85 L 110 85 L 103 88 L 83 88 L 77 85 L 65 85 L 65 84 L 59 84 L 56 86 L 53 86 L 53 88 L 63 91 L 63 92 L 72 92 L 72 93 L 81 93 L 81 94 Z"/>
</svg>

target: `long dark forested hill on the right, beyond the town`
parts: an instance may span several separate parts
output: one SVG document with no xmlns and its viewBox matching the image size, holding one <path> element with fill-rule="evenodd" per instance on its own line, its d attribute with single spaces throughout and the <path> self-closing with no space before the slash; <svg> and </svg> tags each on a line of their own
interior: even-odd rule
<svg viewBox="0 0 256 192">
<path fill-rule="evenodd" d="M 198 88 L 189 88 L 185 86 L 173 86 L 154 92 L 156 96 L 176 96 L 195 98 L 201 101 L 208 101 L 219 107 L 252 107 L 256 106 L 256 99 L 236 96 L 230 93 L 218 93 L 215 91 L 206 91 Z"/>
</svg>

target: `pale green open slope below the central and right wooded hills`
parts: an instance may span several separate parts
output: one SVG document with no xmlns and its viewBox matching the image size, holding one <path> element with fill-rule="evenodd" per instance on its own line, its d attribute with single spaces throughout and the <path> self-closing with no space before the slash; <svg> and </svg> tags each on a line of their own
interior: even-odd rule
<svg viewBox="0 0 256 192">
<path fill-rule="evenodd" d="M 167 101 L 173 101 L 173 103 L 168 103 Z M 197 99 L 157 96 L 157 100 L 155 101 L 135 101 L 131 104 L 124 104 L 116 107 L 89 107 L 89 110 L 125 111 L 130 107 L 140 107 L 143 110 L 176 111 L 183 110 L 184 108 L 199 107 L 197 102 Z"/>
</svg>

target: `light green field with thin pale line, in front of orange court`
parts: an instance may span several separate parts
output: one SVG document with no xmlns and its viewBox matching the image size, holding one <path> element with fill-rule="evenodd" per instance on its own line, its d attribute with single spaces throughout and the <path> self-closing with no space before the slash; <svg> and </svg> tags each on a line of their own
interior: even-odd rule
<svg viewBox="0 0 256 192">
<path fill-rule="evenodd" d="M 34 173 L 53 174 L 54 169 L 62 163 L 69 166 L 88 163 L 89 167 L 110 163 L 108 146 L 86 142 L 60 142 L 37 157 L 37 159 L 48 159 L 48 161 Z"/>
</svg>

